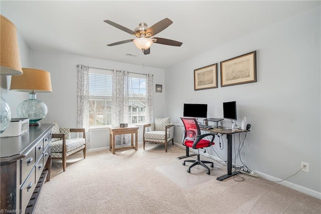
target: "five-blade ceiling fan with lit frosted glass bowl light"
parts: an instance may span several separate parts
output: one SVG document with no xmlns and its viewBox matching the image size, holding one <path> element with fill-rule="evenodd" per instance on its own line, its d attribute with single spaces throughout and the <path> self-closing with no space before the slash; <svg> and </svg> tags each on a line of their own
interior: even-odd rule
<svg viewBox="0 0 321 214">
<path fill-rule="evenodd" d="M 141 49 L 142 52 L 146 55 L 150 53 L 150 46 L 152 43 L 157 43 L 157 44 L 162 44 L 162 45 L 171 45 L 171 46 L 181 46 L 183 43 L 170 40 L 170 39 L 164 39 L 164 38 L 159 38 L 159 37 L 153 37 L 159 32 L 163 31 L 167 27 L 169 27 L 173 22 L 165 18 L 150 28 L 147 28 L 147 24 L 144 22 L 139 23 L 139 26 L 135 28 L 133 31 L 125 28 L 117 23 L 114 23 L 110 20 L 105 20 L 105 23 L 114 26 L 115 28 L 118 28 L 122 31 L 125 31 L 133 36 L 136 37 L 136 39 L 128 39 L 128 40 L 123 40 L 115 43 L 108 44 L 107 46 L 114 46 L 114 45 L 120 45 L 128 42 L 134 42 L 137 48 Z M 152 38 L 151 38 L 152 37 Z"/>
</svg>

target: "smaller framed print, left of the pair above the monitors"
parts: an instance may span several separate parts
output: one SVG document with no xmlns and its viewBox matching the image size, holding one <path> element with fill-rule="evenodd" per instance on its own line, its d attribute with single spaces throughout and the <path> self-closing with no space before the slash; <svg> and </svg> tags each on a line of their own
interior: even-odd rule
<svg viewBox="0 0 321 214">
<path fill-rule="evenodd" d="M 194 70 L 194 90 L 217 88 L 217 63 Z"/>
</svg>

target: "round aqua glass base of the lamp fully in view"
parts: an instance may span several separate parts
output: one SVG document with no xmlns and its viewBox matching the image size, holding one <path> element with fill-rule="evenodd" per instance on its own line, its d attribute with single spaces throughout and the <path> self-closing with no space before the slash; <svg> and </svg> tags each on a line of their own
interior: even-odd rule
<svg viewBox="0 0 321 214">
<path fill-rule="evenodd" d="M 36 98 L 37 93 L 29 93 L 29 99 L 21 102 L 17 107 L 20 118 L 29 118 L 29 126 L 40 126 L 39 121 L 46 117 L 47 105 Z"/>
</svg>

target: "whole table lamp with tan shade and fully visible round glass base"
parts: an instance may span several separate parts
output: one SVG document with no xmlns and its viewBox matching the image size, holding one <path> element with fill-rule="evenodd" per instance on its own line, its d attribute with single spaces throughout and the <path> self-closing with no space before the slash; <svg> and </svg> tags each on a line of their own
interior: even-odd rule
<svg viewBox="0 0 321 214">
<path fill-rule="evenodd" d="M 10 90 L 30 92 L 29 99 L 17 107 L 17 115 L 29 118 L 30 126 L 39 126 L 39 121 L 46 117 L 47 105 L 36 98 L 37 92 L 52 92 L 50 73 L 48 71 L 22 68 L 24 74 L 11 78 Z"/>
</svg>

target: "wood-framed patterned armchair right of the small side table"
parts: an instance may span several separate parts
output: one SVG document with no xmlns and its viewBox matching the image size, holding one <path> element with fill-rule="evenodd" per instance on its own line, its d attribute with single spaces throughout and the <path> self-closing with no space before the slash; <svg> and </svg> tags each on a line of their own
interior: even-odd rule
<svg viewBox="0 0 321 214">
<path fill-rule="evenodd" d="M 174 145 L 174 124 L 171 124 L 170 118 L 155 118 L 154 123 L 144 125 L 142 141 L 144 150 L 145 142 L 150 142 L 165 144 L 167 152 L 167 143 L 170 141 Z"/>
</svg>

